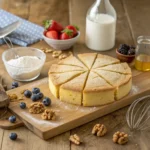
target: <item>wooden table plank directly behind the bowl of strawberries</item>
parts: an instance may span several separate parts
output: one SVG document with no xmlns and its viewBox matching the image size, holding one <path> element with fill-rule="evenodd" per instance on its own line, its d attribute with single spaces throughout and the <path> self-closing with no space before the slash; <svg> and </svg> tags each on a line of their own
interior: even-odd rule
<svg viewBox="0 0 150 150">
<path fill-rule="evenodd" d="M 54 19 L 65 26 L 69 23 L 68 11 L 68 0 L 32 0 L 29 20 L 42 25 L 43 20 Z"/>
</svg>

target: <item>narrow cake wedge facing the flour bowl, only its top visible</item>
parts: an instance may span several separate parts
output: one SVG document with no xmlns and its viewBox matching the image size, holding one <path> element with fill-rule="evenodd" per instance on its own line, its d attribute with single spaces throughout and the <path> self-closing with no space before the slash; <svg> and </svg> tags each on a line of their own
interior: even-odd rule
<svg viewBox="0 0 150 150">
<path fill-rule="evenodd" d="M 85 69 L 77 66 L 52 64 L 49 73 L 62 73 L 71 71 L 85 71 Z"/>
</svg>

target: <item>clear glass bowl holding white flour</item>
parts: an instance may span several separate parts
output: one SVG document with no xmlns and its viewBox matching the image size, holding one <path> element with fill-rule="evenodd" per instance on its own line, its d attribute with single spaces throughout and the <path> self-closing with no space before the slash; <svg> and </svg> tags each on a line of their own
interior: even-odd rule
<svg viewBox="0 0 150 150">
<path fill-rule="evenodd" d="M 15 59 L 15 54 L 17 54 L 19 57 L 36 56 L 41 60 L 41 63 L 39 65 L 35 65 L 34 67 L 16 67 L 15 65 L 8 64 L 9 60 Z M 2 60 L 4 62 L 7 72 L 13 79 L 17 81 L 31 81 L 36 79 L 40 75 L 41 69 L 45 63 L 45 59 L 46 55 L 43 51 L 31 47 L 11 48 L 6 50 L 2 54 Z"/>
</svg>

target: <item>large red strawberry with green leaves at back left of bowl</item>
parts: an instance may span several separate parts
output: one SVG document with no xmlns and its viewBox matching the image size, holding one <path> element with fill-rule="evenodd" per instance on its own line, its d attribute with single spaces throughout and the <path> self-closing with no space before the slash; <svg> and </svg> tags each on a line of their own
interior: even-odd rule
<svg viewBox="0 0 150 150">
<path fill-rule="evenodd" d="M 61 24 L 56 22 L 55 20 L 45 20 L 44 21 L 45 29 L 48 31 L 55 30 L 61 32 L 64 28 Z"/>
</svg>

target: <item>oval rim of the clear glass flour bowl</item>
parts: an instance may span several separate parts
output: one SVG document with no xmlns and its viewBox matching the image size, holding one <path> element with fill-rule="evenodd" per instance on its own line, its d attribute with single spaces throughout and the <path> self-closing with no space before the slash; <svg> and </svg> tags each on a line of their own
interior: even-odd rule
<svg viewBox="0 0 150 150">
<path fill-rule="evenodd" d="M 34 47 L 13 47 L 13 48 L 9 48 L 9 49 L 5 50 L 5 51 L 2 53 L 2 60 L 3 60 L 4 64 L 6 63 L 8 66 L 15 67 L 15 68 L 26 68 L 26 69 L 27 69 L 27 68 L 33 68 L 33 67 L 18 67 L 18 66 L 14 66 L 14 65 L 8 64 L 8 62 L 7 62 L 6 59 L 5 59 L 5 54 L 8 53 L 9 51 L 12 51 L 12 49 L 18 49 L 18 48 L 20 48 L 20 49 L 22 49 L 22 48 L 34 49 L 34 50 L 36 50 L 36 51 L 41 52 L 41 53 L 43 54 L 43 56 L 44 56 L 44 59 L 43 59 L 42 63 L 41 63 L 39 66 L 43 66 L 43 64 L 45 63 L 46 54 L 45 54 L 42 50 L 40 50 L 40 49 L 38 49 L 38 48 L 34 48 Z M 38 67 L 38 66 L 36 66 L 36 68 L 37 68 L 37 67 Z"/>
</svg>

